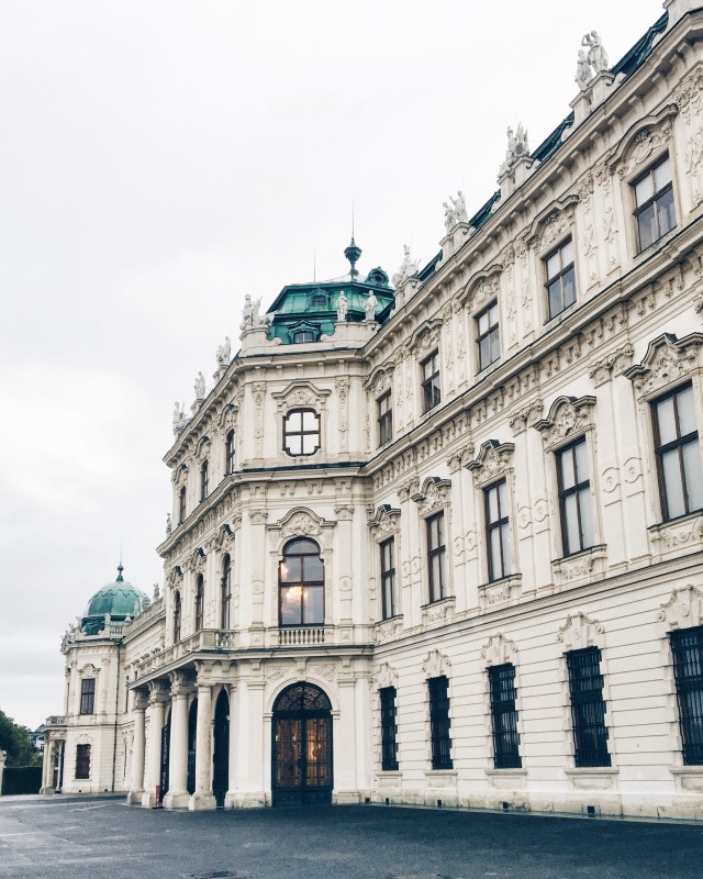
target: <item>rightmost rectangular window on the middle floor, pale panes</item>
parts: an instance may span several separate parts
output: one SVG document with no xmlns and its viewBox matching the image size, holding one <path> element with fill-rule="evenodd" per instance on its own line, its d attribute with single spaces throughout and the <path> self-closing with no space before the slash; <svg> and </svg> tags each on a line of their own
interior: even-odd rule
<svg viewBox="0 0 703 879">
<path fill-rule="evenodd" d="M 651 404 L 655 453 L 666 520 L 703 509 L 703 469 L 693 387 L 687 385 Z"/>
</svg>

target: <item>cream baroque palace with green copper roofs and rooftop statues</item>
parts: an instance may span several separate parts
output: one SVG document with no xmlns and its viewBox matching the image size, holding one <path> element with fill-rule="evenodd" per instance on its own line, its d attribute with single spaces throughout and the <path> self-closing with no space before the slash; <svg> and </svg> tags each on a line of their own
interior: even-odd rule
<svg viewBox="0 0 703 879">
<path fill-rule="evenodd" d="M 353 241 L 247 299 L 176 408 L 163 590 L 64 637 L 45 791 L 703 817 L 696 5 L 584 36 L 424 267 Z"/>
</svg>

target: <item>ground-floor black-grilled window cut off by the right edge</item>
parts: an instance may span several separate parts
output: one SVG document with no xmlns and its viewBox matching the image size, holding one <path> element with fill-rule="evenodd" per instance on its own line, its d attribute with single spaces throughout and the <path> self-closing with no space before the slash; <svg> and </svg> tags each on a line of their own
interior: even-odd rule
<svg viewBox="0 0 703 879">
<path fill-rule="evenodd" d="M 703 626 L 671 632 L 684 766 L 703 765 Z"/>
</svg>

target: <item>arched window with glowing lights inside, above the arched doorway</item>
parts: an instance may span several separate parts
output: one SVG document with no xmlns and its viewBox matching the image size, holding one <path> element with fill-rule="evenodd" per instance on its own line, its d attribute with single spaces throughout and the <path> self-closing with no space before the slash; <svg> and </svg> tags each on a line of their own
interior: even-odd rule
<svg viewBox="0 0 703 879">
<path fill-rule="evenodd" d="M 298 538 L 284 546 L 278 582 L 280 625 L 324 623 L 325 574 L 314 541 Z"/>
</svg>

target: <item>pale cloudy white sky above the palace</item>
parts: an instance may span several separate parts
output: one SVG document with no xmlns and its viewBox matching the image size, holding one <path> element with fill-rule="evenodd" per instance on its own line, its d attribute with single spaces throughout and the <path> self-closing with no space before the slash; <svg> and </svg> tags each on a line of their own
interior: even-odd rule
<svg viewBox="0 0 703 879">
<path fill-rule="evenodd" d="M 60 713 L 60 635 L 160 580 L 174 400 L 244 294 L 429 259 L 505 129 L 569 112 L 660 0 L 0 2 L 0 709 Z M 234 346 L 236 349 L 236 345 Z"/>
</svg>

